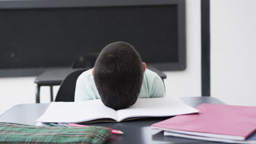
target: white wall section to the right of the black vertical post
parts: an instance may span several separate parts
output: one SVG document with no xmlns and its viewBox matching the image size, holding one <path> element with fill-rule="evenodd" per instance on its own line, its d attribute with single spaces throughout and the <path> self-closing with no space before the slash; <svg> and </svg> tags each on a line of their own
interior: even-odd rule
<svg viewBox="0 0 256 144">
<path fill-rule="evenodd" d="M 211 95 L 256 106 L 256 1 L 211 0 Z"/>
</svg>

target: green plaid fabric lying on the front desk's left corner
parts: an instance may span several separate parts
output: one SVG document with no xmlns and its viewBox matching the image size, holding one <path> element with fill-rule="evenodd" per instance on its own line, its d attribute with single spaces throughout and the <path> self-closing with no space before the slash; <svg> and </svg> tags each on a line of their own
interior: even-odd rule
<svg viewBox="0 0 256 144">
<path fill-rule="evenodd" d="M 37 127 L 0 123 L 0 143 L 103 143 L 112 135 L 106 127 Z"/>
</svg>

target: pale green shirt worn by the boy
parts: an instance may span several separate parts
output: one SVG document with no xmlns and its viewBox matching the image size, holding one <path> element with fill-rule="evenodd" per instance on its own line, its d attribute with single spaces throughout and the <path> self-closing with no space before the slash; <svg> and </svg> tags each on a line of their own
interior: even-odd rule
<svg viewBox="0 0 256 144">
<path fill-rule="evenodd" d="M 94 77 L 92 76 L 92 69 L 82 73 L 77 79 L 75 86 L 75 100 L 91 100 L 100 99 L 98 94 Z M 153 71 L 146 69 L 144 72 L 141 92 L 138 98 L 161 98 L 165 97 L 165 87 L 160 76 Z"/>
</svg>

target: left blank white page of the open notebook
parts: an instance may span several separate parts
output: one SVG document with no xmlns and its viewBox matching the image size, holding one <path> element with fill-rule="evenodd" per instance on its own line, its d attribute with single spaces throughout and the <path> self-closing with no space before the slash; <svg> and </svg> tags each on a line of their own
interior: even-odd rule
<svg viewBox="0 0 256 144">
<path fill-rule="evenodd" d="M 117 121 L 117 112 L 100 99 L 79 102 L 52 102 L 37 122 L 79 123 L 99 118 Z"/>
</svg>

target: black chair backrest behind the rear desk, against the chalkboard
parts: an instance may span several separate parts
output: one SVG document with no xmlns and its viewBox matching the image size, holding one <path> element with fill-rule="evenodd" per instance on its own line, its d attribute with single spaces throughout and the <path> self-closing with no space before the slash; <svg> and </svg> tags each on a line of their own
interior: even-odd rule
<svg viewBox="0 0 256 144">
<path fill-rule="evenodd" d="M 93 68 L 98 57 L 98 53 L 87 53 L 78 57 L 72 64 L 72 68 Z"/>
</svg>

